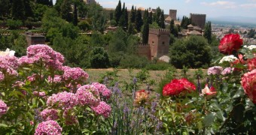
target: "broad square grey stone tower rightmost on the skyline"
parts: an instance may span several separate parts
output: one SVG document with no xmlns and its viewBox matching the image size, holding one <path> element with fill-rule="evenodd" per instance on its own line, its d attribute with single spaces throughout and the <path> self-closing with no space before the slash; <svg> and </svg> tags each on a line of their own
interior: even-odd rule
<svg viewBox="0 0 256 135">
<path fill-rule="evenodd" d="M 204 29 L 206 25 L 206 14 L 190 13 L 191 23 Z"/>
</svg>

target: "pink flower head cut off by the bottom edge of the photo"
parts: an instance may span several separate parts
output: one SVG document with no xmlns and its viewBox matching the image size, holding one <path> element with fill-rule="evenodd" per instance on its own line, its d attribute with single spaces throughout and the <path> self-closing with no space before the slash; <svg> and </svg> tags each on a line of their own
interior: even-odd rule
<svg viewBox="0 0 256 135">
<path fill-rule="evenodd" d="M 35 129 L 35 135 L 61 135 L 61 132 L 62 127 L 60 127 L 59 124 L 53 120 L 43 121 L 39 123 L 38 127 Z"/>
</svg>

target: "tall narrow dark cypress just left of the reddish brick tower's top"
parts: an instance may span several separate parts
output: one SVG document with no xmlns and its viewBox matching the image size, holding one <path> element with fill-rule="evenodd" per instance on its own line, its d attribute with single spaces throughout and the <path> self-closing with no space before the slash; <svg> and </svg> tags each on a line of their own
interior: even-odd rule
<svg viewBox="0 0 256 135">
<path fill-rule="evenodd" d="M 149 33 L 148 10 L 145 10 L 143 22 L 144 22 L 144 27 L 142 30 L 142 43 L 148 43 L 148 33 Z"/>
</svg>

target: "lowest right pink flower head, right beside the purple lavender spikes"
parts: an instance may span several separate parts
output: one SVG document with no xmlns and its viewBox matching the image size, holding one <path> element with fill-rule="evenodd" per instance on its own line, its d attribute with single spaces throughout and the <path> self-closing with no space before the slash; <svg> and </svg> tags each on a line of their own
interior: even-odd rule
<svg viewBox="0 0 256 135">
<path fill-rule="evenodd" d="M 111 107 L 104 101 L 99 102 L 98 106 L 91 108 L 97 115 L 103 115 L 104 118 L 108 118 L 111 114 Z"/>
</svg>

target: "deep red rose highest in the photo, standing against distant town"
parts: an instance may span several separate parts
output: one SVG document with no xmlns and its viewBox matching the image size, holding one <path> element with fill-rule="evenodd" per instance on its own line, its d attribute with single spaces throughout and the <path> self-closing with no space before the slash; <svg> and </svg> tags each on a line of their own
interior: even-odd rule
<svg viewBox="0 0 256 135">
<path fill-rule="evenodd" d="M 242 46 L 242 39 L 239 34 L 226 34 L 220 42 L 218 49 L 223 54 L 231 55 L 233 51 L 237 51 Z"/>
</svg>

